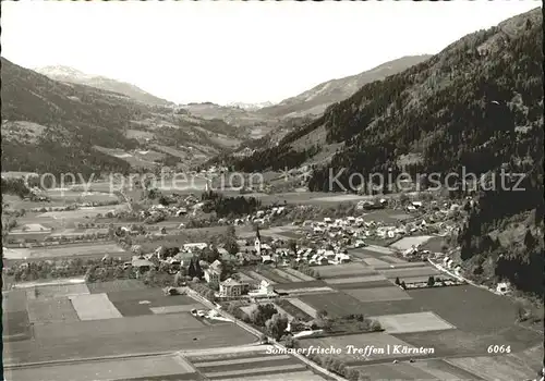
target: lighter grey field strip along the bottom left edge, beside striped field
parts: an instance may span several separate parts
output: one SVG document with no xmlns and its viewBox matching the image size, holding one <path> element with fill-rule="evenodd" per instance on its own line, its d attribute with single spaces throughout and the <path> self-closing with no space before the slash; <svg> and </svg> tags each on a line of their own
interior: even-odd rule
<svg viewBox="0 0 545 381">
<path fill-rule="evenodd" d="M 25 367 L 7 370 L 9 381 L 97 381 L 128 380 L 145 378 L 153 380 L 160 377 L 175 380 L 199 380 L 198 374 L 180 356 L 162 355 L 136 358 L 102 359 L 69 365 L 49 365 L 47 367 Z"/>
</svg>

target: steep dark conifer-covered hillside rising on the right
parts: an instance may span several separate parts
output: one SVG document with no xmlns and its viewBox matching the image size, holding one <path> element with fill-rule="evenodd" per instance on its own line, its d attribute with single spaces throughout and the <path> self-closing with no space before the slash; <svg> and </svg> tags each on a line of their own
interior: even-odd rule
<svg viewBox="0 0 545 381">
<path fill-rule="evenodd" d="M 351 173 L 523 173 L 523 192 L 481 192 L 459 243 L 476 274 L 507 278 L 543 296 L 543 16 L 542 9 L 463 37 L 432 59 L 374 82 L 289 134 L 278 147 L 238 160 L 247 171 L 298 167 L 320 146 L 342 143 L 316 167 L 312 190 L 329 188 L 329 169 L 349 188 Z M 325 139 L 298 139 L 325 128 Z M 413 160 L 402 169 L 400 159 Z M 415 159 L 414 159 L 415 158 Z M 514 176 L 507 188 L 518 181 Z M 354 185 L 358 185 L 356 180 Z M 425 184 L 424 184 L 425 185 Z M 489 184 L 487 184 L 489 185 Z M 522 237 L 499 243 L 510 229 Z M 525 228 L 522 228 L 525 226 Z M 519 239 L 520 238 L 520 239 Z M 488 263 L 488 266 L 486 265 Z"/>
</svg>

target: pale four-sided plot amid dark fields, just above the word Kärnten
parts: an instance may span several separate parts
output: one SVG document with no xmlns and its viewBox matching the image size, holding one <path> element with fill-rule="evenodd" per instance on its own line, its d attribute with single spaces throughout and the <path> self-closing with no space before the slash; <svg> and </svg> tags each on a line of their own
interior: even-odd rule
<svg viewBox="0 0 545 381">
<path fill-rule="evenodd" d="M 451 324 L 434 312 L 401 314 L 373 317 L 380 322 L 387 333 L 409 333 L 453 329 Z"/>
</svg>

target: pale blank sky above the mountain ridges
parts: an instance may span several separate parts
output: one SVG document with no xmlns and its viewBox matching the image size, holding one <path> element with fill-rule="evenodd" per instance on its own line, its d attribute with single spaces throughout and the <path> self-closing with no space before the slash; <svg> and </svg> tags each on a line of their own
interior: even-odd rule
<svg viewBox="0 0 545 381">
<path fill-rule="evenodd" d="M 280 101 L 436 53 L 541 1 L 2 1 L 2 56 L 68 65 L 175 102 Z"/>
</svg>

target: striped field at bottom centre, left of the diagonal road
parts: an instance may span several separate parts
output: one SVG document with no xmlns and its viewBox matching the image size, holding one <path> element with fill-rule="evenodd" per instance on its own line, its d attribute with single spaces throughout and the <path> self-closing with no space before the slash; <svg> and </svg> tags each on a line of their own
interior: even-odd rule
<svg viewBox="0 0 545 381">
<path fill-rule="evenodd" d="M 293 356 L 268 354 L 263 347 L 252 352 L 190 355 L 187 359 L 208 380 L 324 380 Z"/>
</svg>

